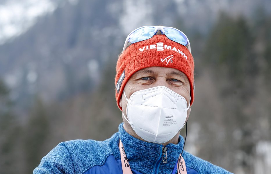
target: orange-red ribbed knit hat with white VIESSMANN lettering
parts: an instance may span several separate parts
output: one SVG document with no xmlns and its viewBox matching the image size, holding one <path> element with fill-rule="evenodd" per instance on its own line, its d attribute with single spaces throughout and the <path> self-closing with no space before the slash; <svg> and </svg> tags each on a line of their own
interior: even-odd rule
<svg viewBox="0 0 271 174">
<path fill-rule="evenodd" d="M 182 71 L 190 82 L 190 106 L 194 101 L 194 60 L 188 49 L 165 35 L 131 44 L 117 61 L 115 77 L 116 100 L 120 107 L 120 98 L 126 82 L 136 71 L 147 67 L 169 67 Z"/>
</svg>

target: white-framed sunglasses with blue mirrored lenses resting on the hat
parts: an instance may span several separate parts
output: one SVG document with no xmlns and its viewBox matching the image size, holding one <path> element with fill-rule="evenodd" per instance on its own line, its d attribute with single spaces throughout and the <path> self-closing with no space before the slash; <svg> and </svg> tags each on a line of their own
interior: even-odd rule
<svg viewBox="0 0 271 174">
<path fill-rule="evenodd" d="M 150 39 L 157 34 L 163 34 L 168 39 L 182 44 L 191 53 L 190 43 L 186 35 L 176 28 L 165 26 L 142 26 L 135 29 L 127 36 L 122 51 L 124 51 L 131 44 Z"/>
</svg>

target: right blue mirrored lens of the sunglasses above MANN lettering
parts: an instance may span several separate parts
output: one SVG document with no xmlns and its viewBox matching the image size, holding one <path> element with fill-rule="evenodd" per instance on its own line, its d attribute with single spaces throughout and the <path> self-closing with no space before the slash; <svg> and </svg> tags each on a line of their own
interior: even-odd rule
<svg viewBox="0 0 271 174">
<path fill-rule="evenodd" d="M 179 44 L 182 44 L 184 46 L 188 44 L 187 38 L 183 35 L 183 33 L 179 32 L 178 30 L 175 30 L 173 28 L 164 28 L 164 30 L 165 30 L 165 35 L 170 40 L 178 42 Z"/>
</svg>

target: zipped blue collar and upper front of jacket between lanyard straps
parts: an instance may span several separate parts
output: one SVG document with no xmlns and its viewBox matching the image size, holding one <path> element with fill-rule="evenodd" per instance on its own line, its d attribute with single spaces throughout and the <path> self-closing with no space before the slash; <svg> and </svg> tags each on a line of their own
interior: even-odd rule
<svg viewBox="0 0 271 174">
<path fill-rule="evenodd" d="M 172 173 L 183 148 L 184 139 L 181 135 L 179 135 L 178 144 L 170 143 L 166 146 L 167 163 L 163 163 L 163 145 L 136 139 L 124 130 L 123 123 L 119 125 L 118 134 L 119 137 L 115 138 L 114 143 L 114 155 L 120 159 L 120 150 L 118 148 L 120 138 L 131 169 L 141 173 Z"/>
</svg>

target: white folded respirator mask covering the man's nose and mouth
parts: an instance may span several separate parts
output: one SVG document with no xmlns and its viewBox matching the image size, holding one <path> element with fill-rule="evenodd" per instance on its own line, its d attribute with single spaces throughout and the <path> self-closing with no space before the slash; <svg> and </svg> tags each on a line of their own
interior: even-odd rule
<svg viewBox="0 0 271 174">
<path fill-rule="evenodd" d="M 153 143 L 165 143 L 185 125 L 186 99 L 164 86 L 144 89 L 128 99 L 126 121 L 139 137 Z"/>
</svg>

